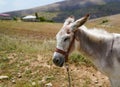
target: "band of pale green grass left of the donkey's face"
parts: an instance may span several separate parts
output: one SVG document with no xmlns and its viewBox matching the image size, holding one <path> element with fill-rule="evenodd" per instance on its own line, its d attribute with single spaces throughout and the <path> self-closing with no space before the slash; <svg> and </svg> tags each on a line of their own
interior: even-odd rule
<svg viewBox="0 0 120 87">
<path fill-rule="evenodd" d="M 1 51 L 24 53 L 52 51 L 55 44 L 55 41 L 52 40 L 29 40 L 27 38 L 11 38 L 6 35 L 0 35 L 0 41 Z"/>
</svg>

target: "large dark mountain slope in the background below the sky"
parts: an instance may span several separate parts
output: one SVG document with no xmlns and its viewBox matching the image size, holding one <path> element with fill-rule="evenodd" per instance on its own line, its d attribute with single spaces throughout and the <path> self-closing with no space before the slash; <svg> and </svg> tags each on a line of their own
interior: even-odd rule
<svg viewBox="0 0 120 87">
<path fill-rule="evenodd" d="M 62 22 L 69 15 L 75 15 L 78 18 L 87 13 L 92 15 L 91 18 L 98 18 L 120 13 L 120 0 L 64 0 L 45 6 L 7 13 L 22 17 L 35 12 L 39 13 L 39 16 L 44 14 L 42 16 L 56 22 Z M 51 14 L 51 17 L 48 17 L 48 13 Z"/>
</svg>

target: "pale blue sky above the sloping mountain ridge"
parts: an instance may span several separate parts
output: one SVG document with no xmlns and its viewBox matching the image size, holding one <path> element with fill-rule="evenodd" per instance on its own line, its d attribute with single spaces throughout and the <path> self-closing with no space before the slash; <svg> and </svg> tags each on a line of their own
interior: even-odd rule
<svg viewBox="0 0 120 87">
<path fill-rule="evenodd" d="M 63 0 L 0 0 L 0 13 L 29 9 Z"/>
</svg>

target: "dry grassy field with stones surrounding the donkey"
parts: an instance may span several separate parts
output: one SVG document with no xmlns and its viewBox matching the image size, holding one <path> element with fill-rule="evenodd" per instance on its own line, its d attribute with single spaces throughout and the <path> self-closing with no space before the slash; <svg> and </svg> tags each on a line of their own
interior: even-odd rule
<svg viewBox="0 0 120 87">
<path fill-rule="evenodd" d="M 86 25 L 120 32 L 119 24 L 111 20 L 91 20 Z M 61 27 L 60 23 L 0 21 L 0 76 L 8 76 L 0 79 L 0 87 L 47 87 L 48 83 L 67 87 L 65 68 L 52 63 L 55 35 Z M 72 87 L 109 86 L 108 78 L 76 53 L 70 57 L 70 74 Z"/>
</svg>

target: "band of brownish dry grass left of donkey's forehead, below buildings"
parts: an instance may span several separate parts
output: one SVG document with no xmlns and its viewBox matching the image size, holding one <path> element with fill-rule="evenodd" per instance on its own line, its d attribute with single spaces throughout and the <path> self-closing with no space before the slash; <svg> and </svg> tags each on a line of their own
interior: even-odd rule
<svg viewBox="0 0 120 87">
<path fill-rule="evenodd" d="M 53 38 L 61 26 L 62 24 L 58 23 L 1 21 L 0 32 L 11 36 L 22 35 L 25 37 L 45 39 Z"/>
</svg>

